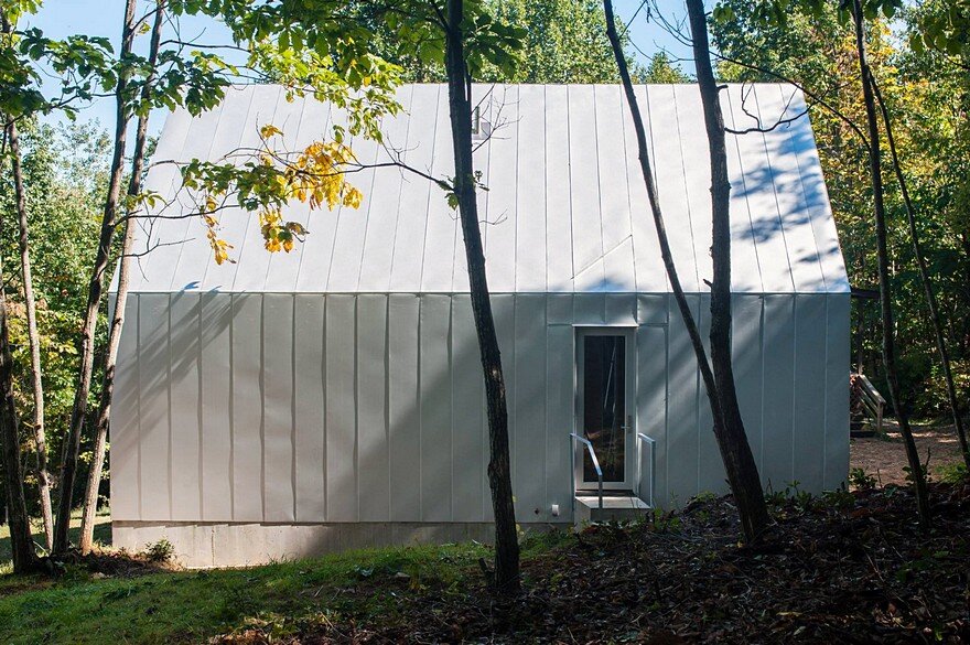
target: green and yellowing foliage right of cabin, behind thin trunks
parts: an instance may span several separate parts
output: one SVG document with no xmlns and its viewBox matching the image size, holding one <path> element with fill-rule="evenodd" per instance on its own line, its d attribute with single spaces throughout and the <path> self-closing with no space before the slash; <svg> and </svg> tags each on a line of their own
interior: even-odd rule
<svg viewBox="0 0 970 645">
<path fill-rule="evenodd" d="M 833 3 L 812 3 L 810 10 L 793 4 L 783 23 L 765 13 L 767 6 L 719 2 L 711 29 L 718 49 L 729 58 L 721 62 L 720 75 L 729 82 L 790 78 L 838 111 L 808 99 L 815 104 L 812 129 L 850 279 L 854 287 L 874 288 L 877 278 L 866 148 L 852 127 L 864 130 L 865 122 L 852 30 Z M 876 4 L 870 3 L 866 46 L 894 119 L 903 172 L 919 217 L 917 226 L 937 287 L 956 376 L 966 380 L 970 377 L 970 316 L 966 315 L 970 309 L 970 122 L 966 118 L 970 58 L 909 46 L 927 15 L 947 12 L 953 6 L 953 0 L 933 0 L 907 7 L 894 13 L 895 22 L 891 23 L 879 18 L 873 11 Z M 890 11 L 895 4 L 879 7 Z M 885 11 L 881 10 L 882 15 Z M 941 391 L 935 386 L 938 359 L 904 204 L 892 174 L 886 160 L 903 404 L 917 415 L 931 416 L 941 411 L 934 396 Z M 886 391 L 876 309 L 874 301 L 855 303 L 853 362 L 861 356 L 858 367 L 877 389 Z"/>
</svg>

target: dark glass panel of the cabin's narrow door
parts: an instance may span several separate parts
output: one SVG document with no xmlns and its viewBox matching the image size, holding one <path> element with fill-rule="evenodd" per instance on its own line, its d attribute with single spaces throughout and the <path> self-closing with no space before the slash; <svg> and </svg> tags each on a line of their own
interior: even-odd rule
<svg viewBox="0 0 970 645">
<path fill-rule="evenodd" d="M 625 480 L 626 338 L 586 336 L 583 343 L 583 433 L 593 444 L 604 482 Z M 596 481 L 588 451 L 583 480 Z"/>
</svg>

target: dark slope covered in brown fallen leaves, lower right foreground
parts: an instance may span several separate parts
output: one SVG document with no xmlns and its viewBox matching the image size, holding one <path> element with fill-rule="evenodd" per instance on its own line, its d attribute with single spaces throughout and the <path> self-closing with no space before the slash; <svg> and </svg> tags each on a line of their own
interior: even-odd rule
<svg viewBox="0 0 970 645">
<path fill-rule="evenodd" d="M 699 499 L 565 539 L 526 562 L 526 592 L 510 602 L 474 570 L 417 591 L 382 572 L 344 593 L 396 598 L 385 616 L 276 616 L 222 642 L 970 642 L 970 486 L 936 484 L 933 496 L 929 533 L 895 486 L 777 499 L 758 548 L 739 546 L 730 499 Z"/>
</svg>

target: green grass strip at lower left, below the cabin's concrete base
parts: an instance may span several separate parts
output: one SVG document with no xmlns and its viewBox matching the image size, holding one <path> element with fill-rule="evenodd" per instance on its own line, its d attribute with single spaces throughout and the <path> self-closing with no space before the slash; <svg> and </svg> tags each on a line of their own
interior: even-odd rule
<svg viewBox="0 0 970 645">
<path fill-rule="evenodd" d="M 524 557 L 561 536 L 526 540 Z M 0 577 L 0 643 L 197 643 L 247 620 L 381 616 L 397 598 L 455 589 L 481 577 L 477 542 L 360 550 L 249 569 L 175 571 L 94 579 L 68 567 L 57 580 Z"/>
</svg>

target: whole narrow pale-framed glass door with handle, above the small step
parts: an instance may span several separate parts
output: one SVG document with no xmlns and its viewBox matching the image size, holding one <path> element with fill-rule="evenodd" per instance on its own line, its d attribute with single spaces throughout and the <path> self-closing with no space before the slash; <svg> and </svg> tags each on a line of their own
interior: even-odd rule
<svg viewBox="0 0 970 645">
<path fill-rule="evenodd" d="M 575 432 L 593 444 L 606 490 L 633 488 L 634 366 L 632 329 L 576 329 Z M 576 488 L 595 490 L 593 460 L 575 443 Z"/>
</svg>

